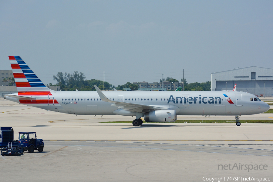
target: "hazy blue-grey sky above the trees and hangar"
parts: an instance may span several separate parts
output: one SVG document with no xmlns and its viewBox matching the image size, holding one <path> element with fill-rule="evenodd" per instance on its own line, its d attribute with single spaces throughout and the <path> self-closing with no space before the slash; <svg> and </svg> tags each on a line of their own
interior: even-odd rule
<svg viewBox="0 0 273 182">
<path fill-rule="evenodd" d="M 44 84 L 58 72 L 115 86 L 188 83 L 273 68 L 273 1 L 0 0 L 0 70 L 20 56 Z"/>
</svg>

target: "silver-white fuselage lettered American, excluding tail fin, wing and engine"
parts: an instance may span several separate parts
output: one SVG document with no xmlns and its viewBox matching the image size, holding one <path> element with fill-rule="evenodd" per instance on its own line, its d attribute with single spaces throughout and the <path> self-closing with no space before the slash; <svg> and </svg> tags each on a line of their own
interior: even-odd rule
<svg viewBox="0 0 273 182">
<path fill-rule="evenodd" d="M 51 94 L 52 96 L 34 96 L 35 100 L 12 98 L 8 95 L 5 98 L 69 114 L 136 115 L 135 112 L 120 112 L 122 108 L 101 101 L 96 91 L 51 91 Z M 249 115 L 269 109 L 268 104 L 263 101 L 251 101 L 251 98 L 256 98 L 255 95 L 236 91 L 103 91 L 103 94 L 111 101 L 175 110 L 176 115 Z"/>
</svg>

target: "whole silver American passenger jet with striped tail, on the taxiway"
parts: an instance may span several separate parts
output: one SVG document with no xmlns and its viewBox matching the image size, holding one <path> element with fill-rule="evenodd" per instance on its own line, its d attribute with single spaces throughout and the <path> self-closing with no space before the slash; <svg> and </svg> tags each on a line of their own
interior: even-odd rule
<svg viewBox="0 0 273 182">
<path fill-rule="evenodd" d="M 18 93 L 5 99 L 27 106 L 75 115 L 136 117 L 133 126 L 174 122 L 177 115 L 235 116 L 268 111 L 269 105 L 253 94 L 236 91 L 53 91 L 45 86 L 19 56 L 9 56 Z"/>
</svg>

